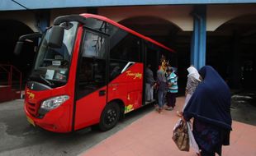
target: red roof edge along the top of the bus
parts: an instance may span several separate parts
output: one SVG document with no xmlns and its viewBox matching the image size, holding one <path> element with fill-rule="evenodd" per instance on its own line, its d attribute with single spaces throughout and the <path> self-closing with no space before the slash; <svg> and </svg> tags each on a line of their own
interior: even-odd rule
<svg viewBox="0 0 256 156">
<path fill-rule="evenodd" d="M 120 24 L 117 23 L 116 21 L 112 21 L 112 20 L 108 19 L 108 18 L 105 17 L 105 16 L 98 16 L 98 15 L 93 15 L 93 14 L 88 14 L 88 13 L 80 14 L 80 16 L 84 16 L 84 17 L 86 17 L 86 18 L 90 18 L 90 17 L 91 17 L 91 18 L 96 18 L 96 19 L 102 20 L 102 21 L 107 21 L 107 22 L 110 23 L 111 25 L 115 25 L 115 26 L 121 28 L 122 30 L 126 30 L 126 31 L 129 32 L 130 34 L 134 34 L 134 35 L 140 37 L 141 39 L 145 39 L 145 40 L 151 42 L 152 44 L 156 44 L 156 45 L 158 45 L 159 47 L 164 48 L 164 49 L 166 49 L 166 50 L 168 50 L 168 51 L 170 51 L 170 52 L 175 52 L 173 49 L 164 46 L 164 44 L 160 44 L 159 42 L 155 41 L 154 39 L 150 39 L 149 37 L 146 37 L 146 36 L 143 35 L 143 34 L 137 33 L 137 32 L 135 32 L 134 30 L 130 30 L 130 29 L 127 28 L 126 26 L 120 25 Z"/>
</svg>

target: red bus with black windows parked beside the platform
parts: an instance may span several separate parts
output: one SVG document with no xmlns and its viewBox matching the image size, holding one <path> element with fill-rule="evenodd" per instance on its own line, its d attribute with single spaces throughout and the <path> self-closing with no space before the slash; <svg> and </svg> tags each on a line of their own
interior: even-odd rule
<svg viewBox="0 0 256 156">
<path fill-rule="evenodd" d="M 26 39 L 21 36 L 16 53 Z M 59 16 L 42 35 L 25 89 L 28 122 L 47 131 L 116 126 L 145 103 L 145 64 L 156 72 L 173 50 L 142 34 L 92 14 Z"/>
</svg>

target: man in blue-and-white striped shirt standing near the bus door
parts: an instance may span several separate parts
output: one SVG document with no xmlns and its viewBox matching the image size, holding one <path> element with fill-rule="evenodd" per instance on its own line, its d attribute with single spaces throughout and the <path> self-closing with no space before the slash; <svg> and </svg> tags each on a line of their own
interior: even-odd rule
<svg viewBox="0 0 256 156">
<path fill-rule="evenodd" d="M 167 69 L 167 81 L 168 81 L 168 92 L 167 92 L 167 106 L 166 110 L 173 110 L 176 103 L 176 94 L 178 93 L 178 76 L 174 73 L 173 68 Z"/>
</svg>

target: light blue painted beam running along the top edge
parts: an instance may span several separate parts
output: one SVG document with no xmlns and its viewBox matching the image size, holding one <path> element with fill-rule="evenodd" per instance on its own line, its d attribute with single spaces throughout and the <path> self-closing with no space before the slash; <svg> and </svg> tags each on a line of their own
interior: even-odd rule
<svg viewBox="0 0 256 156">
<path fill-rule="evenodd" d="M 0 11 L 64 7 L 106 7 L 165 4 L 256 3 L 256 0 L 0 0 Z"/>
</svg>

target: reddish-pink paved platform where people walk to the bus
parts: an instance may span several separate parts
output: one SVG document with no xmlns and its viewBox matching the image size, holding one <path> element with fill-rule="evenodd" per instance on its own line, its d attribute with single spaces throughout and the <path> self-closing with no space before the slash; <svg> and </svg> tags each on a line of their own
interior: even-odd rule
<svg viewBox="0 0 256 156">
<path fill-rule="evenodd" d="M 173 126 L 178 121 L 175 112 L 182 108 L 184 98 L 178 98 L 173 111 L 149 112 L 145 117 L 126 126 L 82 156 L 196 156 L 193 149 L 179 151 L 173 143 Z M 230 146 L 223 146 L 223 156 L 255 156 L 256 126 L 233 121 Z"/>
</svg>

